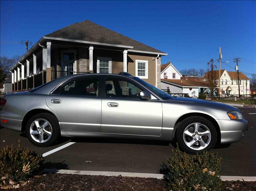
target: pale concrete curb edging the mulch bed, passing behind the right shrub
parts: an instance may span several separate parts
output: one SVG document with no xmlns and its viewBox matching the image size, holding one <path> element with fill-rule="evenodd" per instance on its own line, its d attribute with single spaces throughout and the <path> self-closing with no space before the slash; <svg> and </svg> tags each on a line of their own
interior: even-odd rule
<svg viewBox="0 0 256 191">
<path fill-rule="evenodd" d="M 154 174 L 154 173 L 128 173 L 128 172 L 113 172 L 113 171 L 76 171 L 65 169 L 44 169 L 46 173 L 59 173 L 59 174 L 77 174 L 77 175 L 102 175 L 102 176 L 124 176 L 124 177 L 141 177 L 141 178 L 157 178 L 163 179 L 167 175 Z M 222 181 L 256 181 L 256 177 L 247 176 L 220 176 Z"/>
</svg>

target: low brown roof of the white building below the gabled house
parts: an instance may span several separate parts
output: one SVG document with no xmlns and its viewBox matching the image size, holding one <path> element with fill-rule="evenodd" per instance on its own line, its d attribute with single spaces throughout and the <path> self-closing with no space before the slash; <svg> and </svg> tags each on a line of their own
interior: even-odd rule
<svg viewBox="0 0 256 191">
<path fill-rule="evenodd" d="M 206 82 L 200 82 L 195 80 L 172 80 L 172 79 L 161 79 L 161 81 L 175 84 L 180 87 L 208 87 Z"/>
</svg>

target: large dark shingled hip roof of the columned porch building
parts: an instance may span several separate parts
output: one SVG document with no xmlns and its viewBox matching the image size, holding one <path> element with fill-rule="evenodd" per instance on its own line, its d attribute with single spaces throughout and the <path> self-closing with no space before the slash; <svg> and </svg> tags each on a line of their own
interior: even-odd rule
<svg viewBox="0 0 256 191">
<path fill-rule="evenodd" d="M 95 24 L 89 20 L 85 20 L 80 23 L 74 23 L 70 26 L 66 26 L 60 30 L 56 30 L 55 32 L 52 32 L 45 36 L 72 40 L 83 40 L 89 42 L 99 42 L 106 44 L 133 46 L 134 48 L 132 50 L 164 53 L 160 50 L 157 50 L 148 45 L 133 40 L 132 38 L 124 36 L 118 32 L 114 32 L 113 30 L 109 30 L 103 26 Z"/>
</svg>

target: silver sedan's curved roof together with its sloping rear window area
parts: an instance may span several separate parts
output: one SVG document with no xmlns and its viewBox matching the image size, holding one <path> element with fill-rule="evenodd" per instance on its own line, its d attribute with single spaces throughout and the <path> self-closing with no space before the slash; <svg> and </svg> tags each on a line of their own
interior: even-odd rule
<svg viewBox="0 0 256 191">
<path fill-rule="evenodd" d="M 126 78 L 130 78 L 130 79 L 134 79 L 135 77 L 130 75 L 129 73 L 122 73 L 122 74 L 98 74 L 98 73 L 91 73 L 91 74 L 74 74 L 74 75 L 70 75 L 70 76 L 63 76 L 60 78 L 57 78 L 55 80 L 52 80 L 50 82 L 48 82 L 48 84 L 46 84 L 45 86 L 42 85 L 42 88 L 39 88 L 38 90 L 35 90 L 31 93 L 34 94 L 49 94 L 54 88 L 56 88 L 58 85 L 70 80 L 70 79 L 76 79 L 76 78 L 80 78 L 80 77 L 88 77 L 88 76 L 112 76 L 112 77 L 126 77 Z"/>
</svg>

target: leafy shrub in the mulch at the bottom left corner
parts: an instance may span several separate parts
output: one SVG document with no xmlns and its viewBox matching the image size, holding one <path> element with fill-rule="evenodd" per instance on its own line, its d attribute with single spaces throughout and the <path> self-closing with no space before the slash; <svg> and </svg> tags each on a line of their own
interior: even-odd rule
<svg viewBox="0 0 256 191">
<path fill-rule="evenodd" d="M 40 173 L 44 158 L 36 151 L 13 145 L 0 149 L 0 183 L 20 182 Z"/>
</svg>

